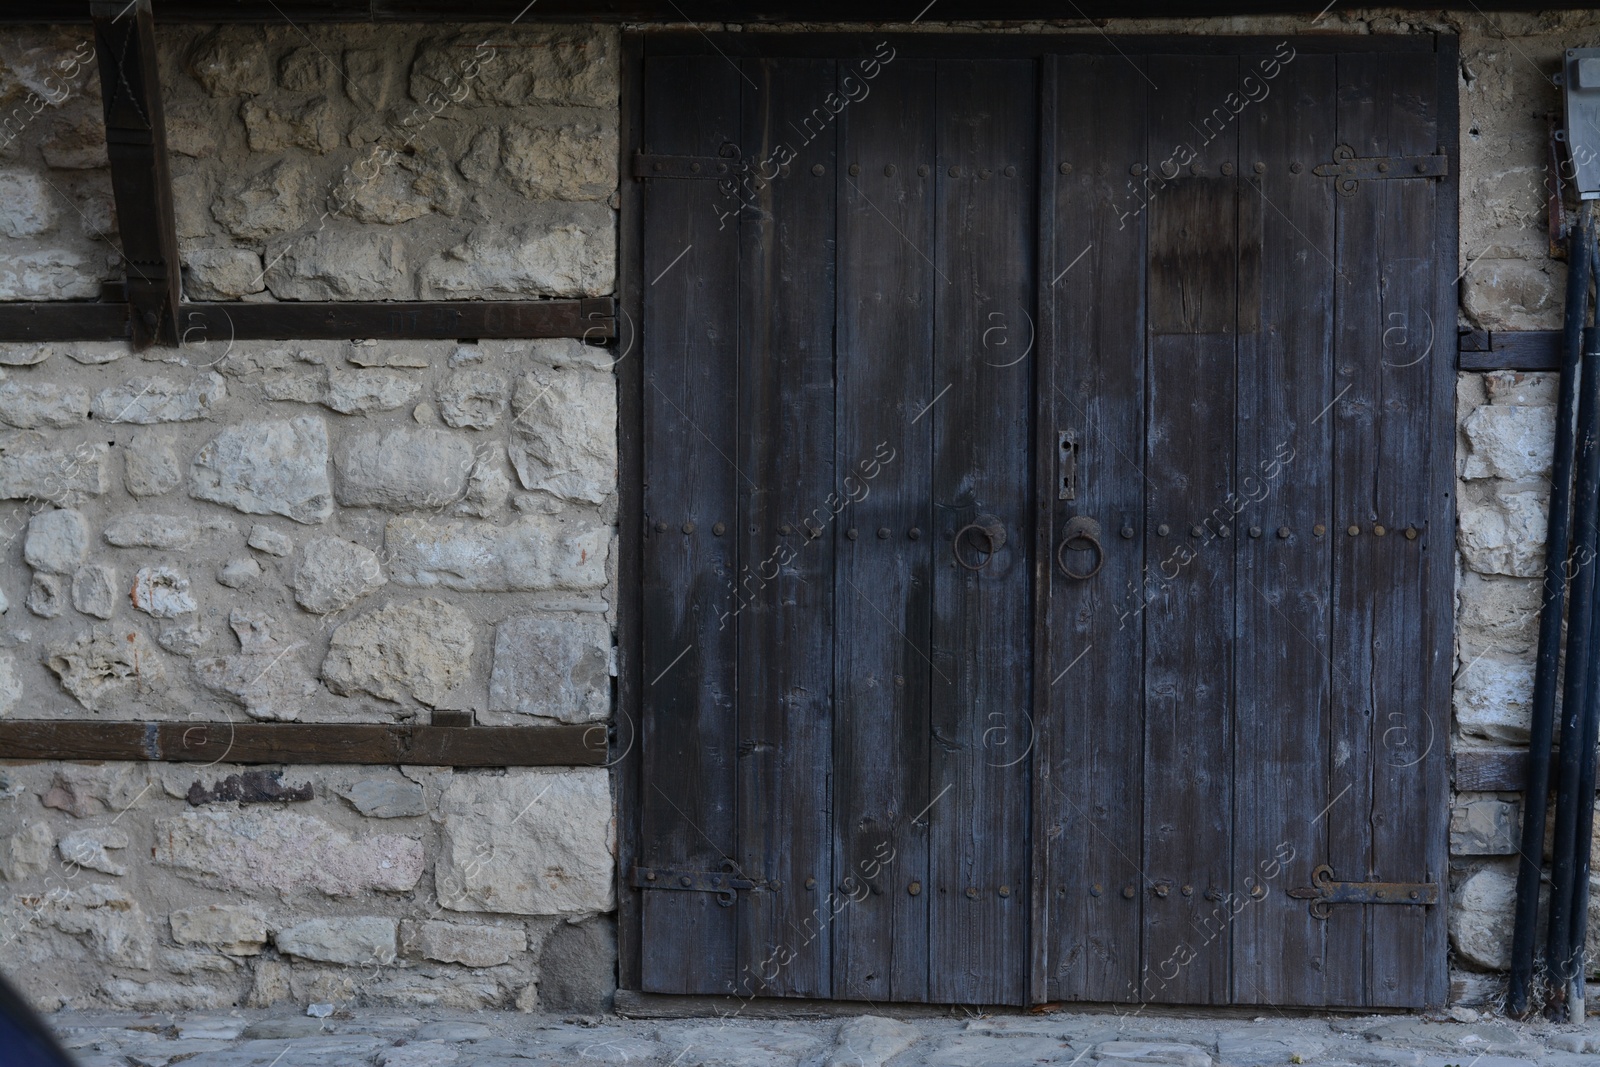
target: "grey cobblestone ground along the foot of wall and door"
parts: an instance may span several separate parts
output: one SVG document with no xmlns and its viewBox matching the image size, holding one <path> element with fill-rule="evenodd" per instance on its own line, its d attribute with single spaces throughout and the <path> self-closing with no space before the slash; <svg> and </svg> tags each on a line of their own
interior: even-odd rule
<svg viewBox="0 0 1600 1067">
<path fill-rule="evenodd" d="M 1469 1013 L 1456 1009 L 1461 1019 Z M 355 1013 L 330 1019 L 61 1013 L 82 1067 L 1600 1067 L 1600 1025 L 1501 1019 L 1117 1014 L 622 1019 Z"/>
</svg>

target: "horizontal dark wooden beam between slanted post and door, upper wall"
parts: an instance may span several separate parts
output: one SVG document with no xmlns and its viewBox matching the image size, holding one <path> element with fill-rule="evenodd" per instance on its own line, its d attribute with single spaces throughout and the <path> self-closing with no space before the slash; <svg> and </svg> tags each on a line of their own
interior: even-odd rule
<svg viewBox="0 0 1600 1067">
<path fill-rule="evenodd" d="M 395 301 L 326 304 L 184 304 L 181 333 L 194 341 L 342 341 L 350 338 L 616 338 L 616 301 Z"/>
</svg>

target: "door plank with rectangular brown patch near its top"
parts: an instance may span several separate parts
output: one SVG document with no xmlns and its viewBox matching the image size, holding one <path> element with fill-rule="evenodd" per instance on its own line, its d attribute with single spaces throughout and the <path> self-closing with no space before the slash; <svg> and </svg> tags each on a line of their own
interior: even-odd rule
<svg viewBox="0 0 1600 1067">
<path fill-rule="evenodd" d="M 1160 589 L 1144 611 L 1144 971 L 1139 998 L 1224 1003 L 1232 899 L 1234 382 L 1238 126 L 1226 99 L 1232 58 L 1149 64 L 1150 291 L 1146 566 Z M 1192 158 L 1186 166 L 1184 160 Z M 1173 270 L 1206 259 L 1226 277 Z M 1171 290 L 1157 293 L 1163 278 Z M 1176 290 L 1176 291 L 1173 291 Z M 1157 333 L 1155 309 L 1173 333 Z M 1205 333 L 1200 333 L 1205 330 Z M 1165 525 L 1168 533 L 1160 534 Z M 1210 937 L 1210 939 L 1208 939 Z"/>
</svg>

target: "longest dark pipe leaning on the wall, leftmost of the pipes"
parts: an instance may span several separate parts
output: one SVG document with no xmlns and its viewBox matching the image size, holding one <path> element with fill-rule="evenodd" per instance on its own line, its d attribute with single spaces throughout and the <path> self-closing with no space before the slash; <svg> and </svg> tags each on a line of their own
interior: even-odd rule
<svg viewBox="0 0 1600 1067">
<path fill-rule="evenodd" d="M 1528 726 L 1528 776 L 1523 790 L 1522 849 L 1517 867 L 1517 920 L 1512 931 L 1510 989 L 1506 1009 L 1528 1014 L 1528 984 L 1539 926 L 1539 878 L 1544 865 L 1544 805 L 1550 795 L 1550 739 L 1555 733 L 1555 688 L 1560 680 L 1562 614 L 1566 597 L 1566 545 L 1573 518 L 1573 437 L 1578 419 L 1578 374 L 1582 355 L 1584 310 L 1589 301 L 1590 240 L 1587 214 L 1568 235 L 1566 323 L 1562 346 L 1562 382 L 1555 416 L 1555 456 L 1550 469 L 1550 517 L 1546 536 L 1544 601 L 1539 613 L 1539 657 L 1533 681 L 1533 721 Z"/>
</svg>

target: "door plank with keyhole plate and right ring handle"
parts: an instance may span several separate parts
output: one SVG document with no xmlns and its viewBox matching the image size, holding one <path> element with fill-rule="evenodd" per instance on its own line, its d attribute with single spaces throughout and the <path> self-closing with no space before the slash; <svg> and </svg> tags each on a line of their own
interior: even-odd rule
<svg viewBox="0 0 1600 1067">
<path fill-rule="evenodd" d="M 1147 82 L 1122 56 L 1056 64 L 1054 154 L 1042 160 L 1051 235 L 1040 267 L 1038 514 L 1048 569 L 1035 693 L 1035 803 L 1048 857 L 1048 997 L 1138 1000 L 1144 885 L 1144 224 L 1128 174 L 1146 158 Z M 1046 98 L 1050 99 L 1050 98 Z M 1061 499 L 1059 435 L 1075 438 Z M 1101 523 L 1106 563 L 1077 581 L 1054 561 L 1067 518 Z M 1125 537 L 1123 531 L 1133 533 Z M 1154 536 L 1149 534 L 1149 536 Z M 1077 571 L 1091 565 L 1069 553 Z M 1133 896 L 1123 896 L 1134 886 Z"/>
</svg>

